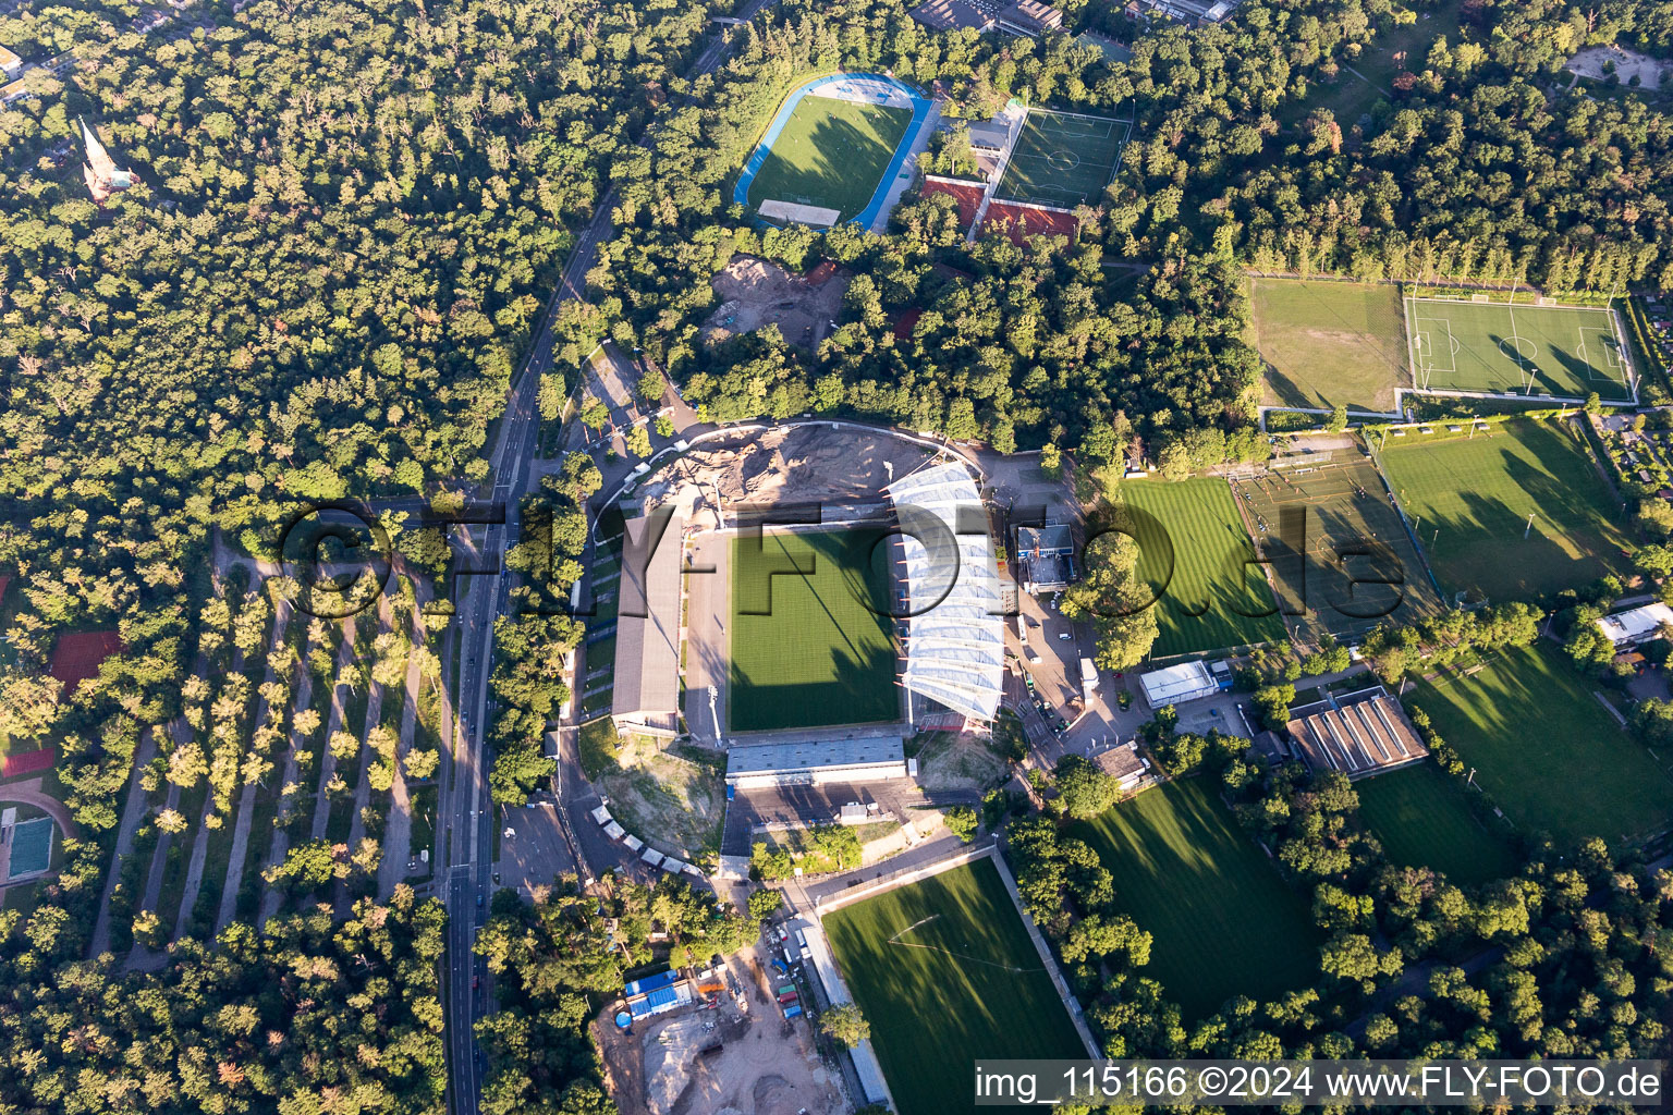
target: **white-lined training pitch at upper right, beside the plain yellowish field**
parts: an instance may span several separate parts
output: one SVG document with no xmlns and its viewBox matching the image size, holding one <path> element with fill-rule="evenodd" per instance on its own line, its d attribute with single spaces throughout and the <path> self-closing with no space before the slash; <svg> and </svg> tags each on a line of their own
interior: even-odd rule
<svg viewBox="0 0 1673 1115">
<path fill-rule="evenodd" d="M 1420 391 L 1633 400 L 1608 309 L 1409 298 L 1405 323 Z"/>
</svg>

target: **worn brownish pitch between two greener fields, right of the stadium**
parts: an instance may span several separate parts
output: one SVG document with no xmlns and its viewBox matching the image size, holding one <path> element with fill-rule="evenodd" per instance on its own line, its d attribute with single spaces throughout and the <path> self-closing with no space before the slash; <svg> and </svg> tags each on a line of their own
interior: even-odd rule
<svg viewBox="0 0 1673 1115">
<path fill-rule="evenodd" d="M 1297 635 L 1352 637 L 1384 617 L 1410 624 L 1440 608 L 1377 468 L 1358 448 L 1276 460 L 1295 463 L 1240 480 L 1233 491 Z"/>
</svg>

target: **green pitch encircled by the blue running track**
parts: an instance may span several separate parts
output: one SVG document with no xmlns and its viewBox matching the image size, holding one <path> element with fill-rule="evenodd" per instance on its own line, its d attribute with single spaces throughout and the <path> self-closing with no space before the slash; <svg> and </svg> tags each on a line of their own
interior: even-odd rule
<svg viewBox="0 0 1673 1115">
<path fill-rule="evenodd" d="M 803 97 L 750 182 L 750 204 L 820 206 L 847 221 L 872 201 L 910 124 L 912 109 Z"/>
</svg>

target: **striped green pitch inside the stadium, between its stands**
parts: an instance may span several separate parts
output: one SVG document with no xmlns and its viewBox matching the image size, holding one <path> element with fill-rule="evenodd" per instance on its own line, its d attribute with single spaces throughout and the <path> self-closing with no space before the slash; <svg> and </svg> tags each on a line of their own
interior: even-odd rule
<svg viewBox="0 0 1673 1115">
<path fill-rule="evenodd" d="M 863 530 L 733 540 L 734 732 L 900 719 L 888 547 L 875 542 Z"/>
</svg>

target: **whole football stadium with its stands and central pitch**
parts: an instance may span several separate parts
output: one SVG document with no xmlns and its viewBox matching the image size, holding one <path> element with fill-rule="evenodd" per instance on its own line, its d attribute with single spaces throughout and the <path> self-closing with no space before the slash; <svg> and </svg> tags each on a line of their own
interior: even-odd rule
<svg viewBox="0 0 1673 1115">
<path fill-rule="evenodd" d="M 977 481 L 895 448 L 918 463 L 821 522 L 714 517 L 674 485 L 624 523 L 619 734 L 711 741 L 748 791 L 903 779 L 917 729 L 994 720 L 1005 593 Z"/>
</svg>

